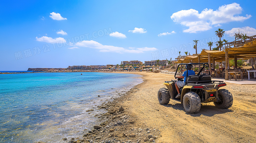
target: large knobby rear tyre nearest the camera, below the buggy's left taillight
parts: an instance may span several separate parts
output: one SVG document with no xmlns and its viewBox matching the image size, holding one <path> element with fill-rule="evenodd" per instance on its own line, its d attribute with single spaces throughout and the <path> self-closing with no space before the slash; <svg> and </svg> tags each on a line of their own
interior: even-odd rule
<svg viewBox="0 0 256 143">
<path fill-rule="evenodd" d="M 197 113 L 201 108 L 200 97 L 195 92 L 188 92 L 183 97 L 183 107 L 188 113 Z"/>
</svg>

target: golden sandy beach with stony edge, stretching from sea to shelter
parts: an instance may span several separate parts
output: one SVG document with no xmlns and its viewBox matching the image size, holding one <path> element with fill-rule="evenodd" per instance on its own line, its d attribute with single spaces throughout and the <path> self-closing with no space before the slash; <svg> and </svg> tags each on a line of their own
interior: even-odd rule
<svg viewBox="0 0 256 143">
<path fill-rule="evenodd" d="M 83 139 L 70 142 L 256 142 L 255 85 L 227 83 L 222 88 L 232 93 L 232 107 L 220 109 L 213 102 L 203 103 L 199 113 L 188 114 L 177 101 L 170 100 L 168 105 L 158 102 L 157 93 L 164 87 L 162 83 L 174 79 L 174 75 L 152 72 L 131 74 L 142 75 L 144 82 L 113 102 L 100 106 L 108 110 L 101 117 L 107 121 L 88 131 Z"/>
</svg>

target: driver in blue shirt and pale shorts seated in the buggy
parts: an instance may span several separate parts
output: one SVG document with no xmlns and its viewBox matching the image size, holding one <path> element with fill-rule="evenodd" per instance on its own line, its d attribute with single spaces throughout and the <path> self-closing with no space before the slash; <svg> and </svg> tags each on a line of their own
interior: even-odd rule
<svg viewBox="0 0 256 143">
<path fill-rule="evenodd" d="M 188 76 L 196 74 L 193 70 L 191 70 L 192 67 L 193 67 L 192 64 L 187 64 L 186 65 L 186 69 L 187 70 L 184 71 L 182 76 L 176 76 L 175 77 L 175 78 L 178 78 L 178 79 L 183 79 L 184 78 L 184 81 L 177 81 L 177 82 L 175 82 L 175 87 L 176 87 L 177 92 L 178 92 L 178 95 L 175 98 L 181 98 L 181 93 L 180 93 L 179 89 L 185 85 L 187 71 L 188 71 Z"/>
</svg>

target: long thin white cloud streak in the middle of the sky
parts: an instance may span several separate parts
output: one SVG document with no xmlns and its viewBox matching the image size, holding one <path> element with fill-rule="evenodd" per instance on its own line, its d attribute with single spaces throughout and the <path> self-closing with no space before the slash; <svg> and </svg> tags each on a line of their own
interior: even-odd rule
<svg viewBox="0 0 256 143">
<path fill-rule="evenodd" d="M 157 50 L 157 48 L 148 48 L 148 47 L 129 50 L 123 47 L 102 45 L 93 40 L 77 42 L 75 45 L 77 47 L 88 47 L 88 48 L 99 49 L 100 52 L 116 52 L 116 53 L 143 53 L 143 51 Z"/>
</svg>

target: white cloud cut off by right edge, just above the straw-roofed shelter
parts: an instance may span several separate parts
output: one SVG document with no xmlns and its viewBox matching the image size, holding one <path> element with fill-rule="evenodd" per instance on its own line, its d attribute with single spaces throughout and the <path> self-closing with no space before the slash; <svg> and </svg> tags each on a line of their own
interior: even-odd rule
<svg viewBox="0 0 256 143">
<path fill-rule="evenodd" d="M 225 31 L 225 34 L 228 34 L 230 37 L 233 37 L 235 33 L 246 33 L 246 36 L 253 36 L 256 35 L 256 29 L 252 27 L 237 27 L 237 28 L 232 28 L 231 30 Z"/>
</svg>

